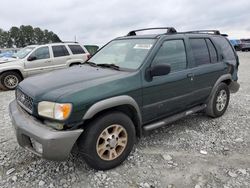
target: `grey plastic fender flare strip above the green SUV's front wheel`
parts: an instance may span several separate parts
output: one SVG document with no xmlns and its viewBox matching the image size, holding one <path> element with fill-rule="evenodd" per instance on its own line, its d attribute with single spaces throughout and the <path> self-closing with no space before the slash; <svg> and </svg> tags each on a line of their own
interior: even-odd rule
<svg viewBox="0 0 250 188">
<path fill-rule="evenodd" d="M 131 107 L 133 107 L 137 113 L 139 123 L 141 125 L 142 117 L 141 117 L 140 108 L 139 108 L 137 102 L 132 97 L 130 97 L 128 95 L 121 95 L 121 96 L 117 96 L 117 97 L 104 99 L 102 101 L 99 101 L 99 102 L 93 104 L 88 109 L 88 111 L 85 113 L 85 115 L 83 116 L 83 120 L 91 119 L 98 112 L 101 112 L 103 110 L 106 110 L 106 109 L 109 109 L 112 107 L 121 106 L 121 105 L 130 105 Z"/>
</svg>

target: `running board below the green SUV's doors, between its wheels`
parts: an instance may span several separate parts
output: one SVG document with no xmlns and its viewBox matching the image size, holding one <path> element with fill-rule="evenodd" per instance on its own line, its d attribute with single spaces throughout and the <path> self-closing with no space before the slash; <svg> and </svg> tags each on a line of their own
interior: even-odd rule
<svg viewBox="0 0 250 188">
<path fill-rule="evenodd" d="M 167 125 L 167 124 L 169 124 L 169 123 L 172 123 L 172 122 L 174 122 L 174 121 L 176 121 L 176 120 L 178 120 L 178 119 L 181 119 L 181 118 L 183 118 L 183 117 L 186 117 L 186 116 L 188 116 L 188 115 L 190 115 L 190 114 L 193 114 L 193 113 L 199 112 L 199 111 L 201 111 L 201 110 L 204 110 L 206 107 L 207 107 L 206 104 L 203 104 L 203 105 L 201 105 L 201 106 L 196 106 L 196 107 L 194 107 L 194 108 L 191 108 L 191 109 L 189 109 L 189 110 L 187 110 L 187 111 L 184 111 L 184 112 L 181 112 L 181 113 L 179 113 L 179 114 L 175 114 L 175 115 L 173 115 L 173 116 L 167 117 L 167 118 L 162 119 L 162 120 L 160 120 L 160 121 L 157 121 L 157 122 L 154 122 L 154 123 L 145 125 L 145 126 L 143 127 L 143 130 L 144 130 L 144 131 L 150 131 L 150 130 L 153 130 L 153 129 L 157 129 L 157 128 L 159 128 L 159 127 L 162 127 L 162 126 L 164 126 L 164 125 Z"/>
</svg>

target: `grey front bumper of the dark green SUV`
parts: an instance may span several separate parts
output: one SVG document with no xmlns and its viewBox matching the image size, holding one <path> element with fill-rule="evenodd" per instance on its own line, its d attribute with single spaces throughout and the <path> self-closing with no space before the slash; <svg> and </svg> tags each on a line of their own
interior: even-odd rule
<svg viewBox="0 0 250 188">
<path fill-rule="evenodd" d="M 24 112 L 16 101 L 10 103 L 9 112 L 18 144 L 45 159 L 65 160 L 83 132 L 54 130 Z M 32 144 L 34 141 L 42 146 L 41 152 Z"/>
</svg>

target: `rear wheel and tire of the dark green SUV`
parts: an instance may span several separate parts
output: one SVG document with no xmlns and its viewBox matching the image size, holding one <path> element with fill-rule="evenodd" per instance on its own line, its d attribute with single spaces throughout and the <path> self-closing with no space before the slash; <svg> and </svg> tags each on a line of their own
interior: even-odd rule
<svg viewBox="0 0 250 188">
<path fill-rule="evenodd" d="M 215 91 L 208 102 L 206 114 L 213 118 L 222 116 L 227 110 L 230 100 L 230 92 L 227 84 L 220 83 L 216 86 Z"/>
</svg>

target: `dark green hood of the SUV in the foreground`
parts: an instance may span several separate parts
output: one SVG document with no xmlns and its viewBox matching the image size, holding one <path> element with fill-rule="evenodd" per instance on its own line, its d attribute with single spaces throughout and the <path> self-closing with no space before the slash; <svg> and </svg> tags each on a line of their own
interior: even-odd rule
<svg viewBox="0 0 250 188">
<path fill-rule="evenodd" d="M 127 74 L 129 73 L 108 68 L 81 65 L 29 77 L 19 87 L 35 101 L 56 101 L 68 93 L 82 91 Z"/>
</svg>

